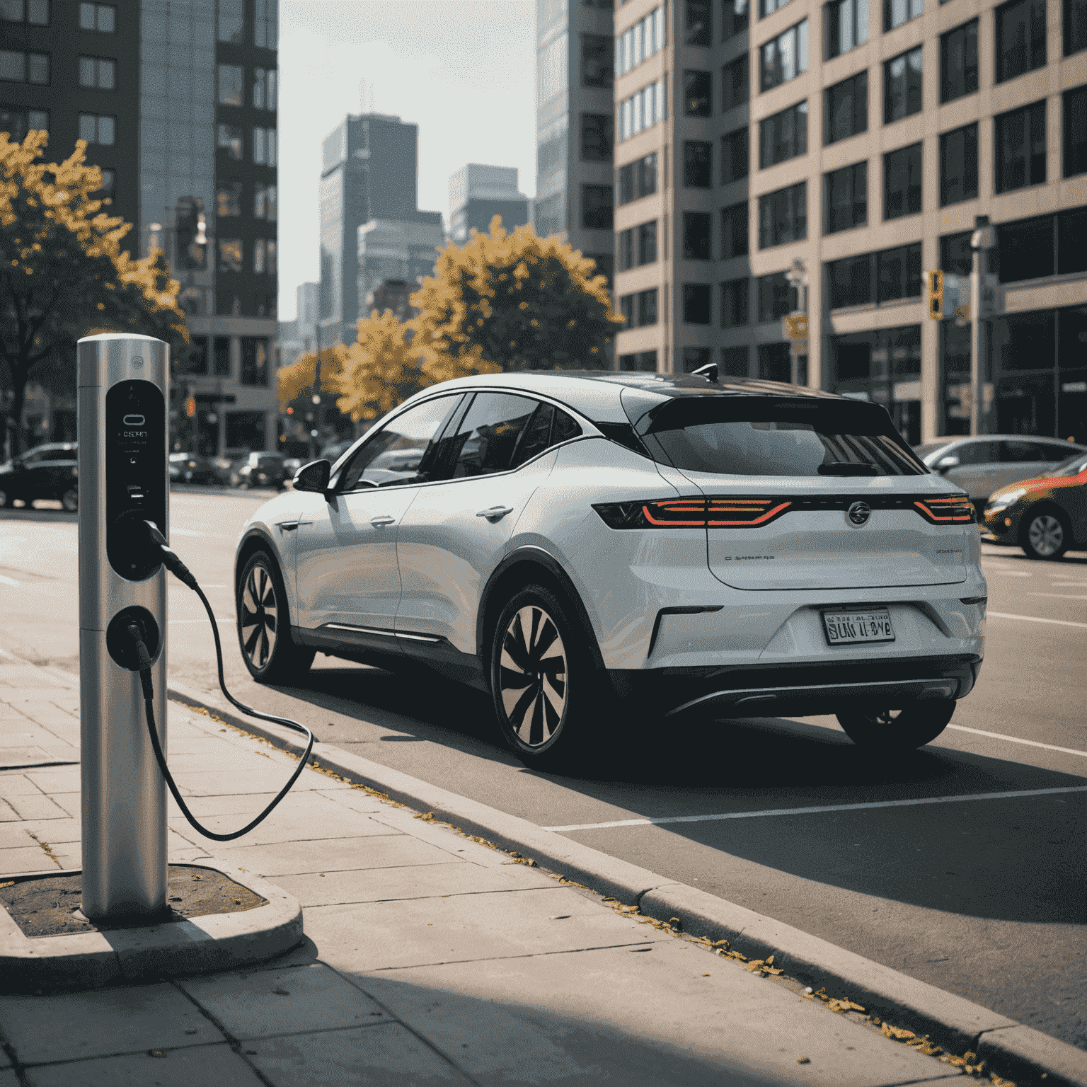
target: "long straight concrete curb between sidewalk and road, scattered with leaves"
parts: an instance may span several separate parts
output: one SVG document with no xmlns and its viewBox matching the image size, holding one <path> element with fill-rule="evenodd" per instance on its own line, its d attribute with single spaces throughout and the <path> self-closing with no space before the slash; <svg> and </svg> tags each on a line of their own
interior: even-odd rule
<svg viewBox="0 0 1087 1087">
<path fill-rule="evenodd" d="M 304 750 L 286 729 L 250 721 L 217 698 L 177 684 L 167 694 L 277 748 L 296 755 Z M 1087 1087 L 1084 1050 L 820 937 L 332 745 L 315 742 L 311 762 L 417 811 L 433 812 L 466 834 L 516 850 L 601 895 L 637 904 L 646 916 L 665 922 L 678 917 L 682 930 L 691 936 L 727 939 L 749 959 L 773 954 L 775 965 L 790 977 L 828 996 L 848 997 L 867 1013 L 927 1035 L 952 1053 L 973 1052 L 1015 1087 Z"/>
</svg>

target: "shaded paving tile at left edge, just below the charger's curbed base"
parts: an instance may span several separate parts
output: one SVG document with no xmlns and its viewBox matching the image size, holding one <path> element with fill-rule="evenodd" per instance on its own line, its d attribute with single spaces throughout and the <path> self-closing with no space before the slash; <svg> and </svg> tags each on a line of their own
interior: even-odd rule
<svg viewBox="0 0 1087 1087">
<path fill-rule="evenodd" d="M 223 1035 L 166 983 L 43 997 L 0 997 L 0 1024 L 24 1064 L 174 1049 Z"/>
</svg>

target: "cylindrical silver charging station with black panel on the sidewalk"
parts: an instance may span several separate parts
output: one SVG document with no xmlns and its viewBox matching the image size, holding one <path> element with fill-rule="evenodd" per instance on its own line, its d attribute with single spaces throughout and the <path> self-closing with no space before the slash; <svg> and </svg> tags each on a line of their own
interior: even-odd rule
<svg viewBox="0 0 1087 1087">
<path fill-rule="evenodd" d="M 166 790 L 128 624 L 154 661 L 165 750 L 166 571 L 143 522 L 168 538 L 170 348 L 89 336 L 77 365 L 83 912 L 105 919 L 166 904 Z"/>
</svg>

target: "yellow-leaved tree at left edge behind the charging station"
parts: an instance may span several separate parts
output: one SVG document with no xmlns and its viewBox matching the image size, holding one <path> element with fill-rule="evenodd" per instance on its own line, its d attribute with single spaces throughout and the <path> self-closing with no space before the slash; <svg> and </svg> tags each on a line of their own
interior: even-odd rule
<svg viewBox="0 0 1087 1087">
<path fill-rule="evenodd" d="M 0 133 L 0 387 L 13 392 L 13 454 L 35 367 L 70 361 L 91 329 L 157 336 L 175 350 L 188 340 L 179 284 L 160 251 L 134 260 L 121 249 L 132 225 L 102 211 L 102 172 L 86 164 L 86 142 L 47 165 L 46 135 L 18 143 Z"/>
</svg>

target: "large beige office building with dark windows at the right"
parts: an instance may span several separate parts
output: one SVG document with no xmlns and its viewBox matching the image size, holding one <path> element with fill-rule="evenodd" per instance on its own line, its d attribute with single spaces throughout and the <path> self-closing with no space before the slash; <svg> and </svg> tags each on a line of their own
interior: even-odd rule
<svg viewBox="0 0 1087 1087">
<path fill-rule="evenodd" d="M 983 429 L 1087 437 L 1087 0 L 628 0 L 615 36 L 621 367 L 969 433 L 970 328 L 923 273 L 991 222 Z"/>
</svg>

